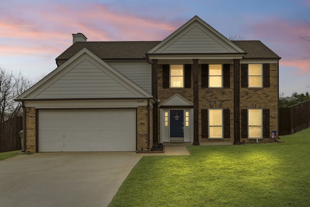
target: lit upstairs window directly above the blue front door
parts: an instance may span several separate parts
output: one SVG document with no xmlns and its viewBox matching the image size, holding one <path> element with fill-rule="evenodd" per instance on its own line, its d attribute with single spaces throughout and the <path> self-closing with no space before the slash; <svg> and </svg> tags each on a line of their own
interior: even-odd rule
<svg viewBox="0 0 310 207">
<path fill-rule="evenodd" d="M 184 87 L 184 67 L 183 64 L 170 65 L 170 87 L 183 88 Z"/>
</svg>

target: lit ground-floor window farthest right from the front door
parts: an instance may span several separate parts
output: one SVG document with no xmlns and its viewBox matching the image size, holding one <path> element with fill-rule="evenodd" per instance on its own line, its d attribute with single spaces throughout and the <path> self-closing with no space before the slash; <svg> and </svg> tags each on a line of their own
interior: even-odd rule
<svg viewBox="0 0 310 207">
<path fill-rule="evenodd" d="M 263 110 L 248 110 L 248 138 L 263 138 Z"/>
</svg>

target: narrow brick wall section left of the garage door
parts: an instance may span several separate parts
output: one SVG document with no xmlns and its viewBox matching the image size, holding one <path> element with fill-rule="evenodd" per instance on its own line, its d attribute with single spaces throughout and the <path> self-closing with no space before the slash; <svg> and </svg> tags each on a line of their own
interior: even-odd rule
<svg viewBox="0 0 310 207">
<path fill-rule="evenodd" d="M 26 107 L 26 151 L 35 152 L 35 108 Z"/>
</svg>

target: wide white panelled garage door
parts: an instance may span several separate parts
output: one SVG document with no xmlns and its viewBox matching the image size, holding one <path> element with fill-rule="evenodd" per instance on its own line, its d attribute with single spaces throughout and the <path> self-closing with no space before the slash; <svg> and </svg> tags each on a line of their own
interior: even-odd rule
<svg viewBox="0 0 310 207">
<path fill-rule="evenodd" d="M 136 151 L 136 110 L 39 110 L 39 152 Z"/>
</svg>

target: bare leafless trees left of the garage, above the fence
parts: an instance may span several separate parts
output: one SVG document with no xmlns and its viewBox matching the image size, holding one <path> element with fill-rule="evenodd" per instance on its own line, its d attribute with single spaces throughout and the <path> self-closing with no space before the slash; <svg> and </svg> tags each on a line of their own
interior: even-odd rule
<svg viewBox="0 0 310 207">
<path fill-rule="evenodd" d="M 14 98 L 32 86 L 31 80 L 0 67 L 0 122 L 21 114 L 21 103 Z"/>
</svg>

